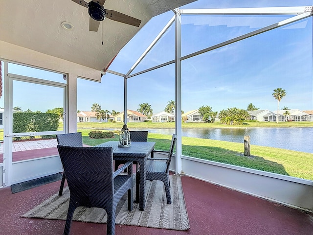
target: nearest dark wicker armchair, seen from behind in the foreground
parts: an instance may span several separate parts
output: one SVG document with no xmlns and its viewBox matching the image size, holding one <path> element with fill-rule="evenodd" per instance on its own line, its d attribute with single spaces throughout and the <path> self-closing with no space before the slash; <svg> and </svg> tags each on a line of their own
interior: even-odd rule
<svg viewBox="0 0 313 235">
<path fill-rule="evenodd" d="M 133 210 L 133 162 L 113 172 L 112 147 L 71 147 L 57 145 L 70 198 L 64 235 L 68 235 L 77 207 L 96 207 L 107 214 L 107 235 L 115 234 L 116 206 L 128 192 L 128 210 Z M 127 175 L 119 174 L 128 168 Z"/>
</svg>

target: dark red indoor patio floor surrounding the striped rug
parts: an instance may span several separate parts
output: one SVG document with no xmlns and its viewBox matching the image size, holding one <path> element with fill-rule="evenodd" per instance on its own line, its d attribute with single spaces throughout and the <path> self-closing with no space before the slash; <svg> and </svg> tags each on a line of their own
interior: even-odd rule
<svg viewBox="0 0 313 235">
<path fill-rule="evenodd" d="M 313 214 L 182 176 L 189 231 L 116 225 L 116 235 L 313 235 Z M 1 235 L 61 235 L 65 221 L 21 218 L 60 181 L 12 194 L 0 189 Z M 106 224 L 73 222 L 71 235 L 103 235 Z"/>
</svg>

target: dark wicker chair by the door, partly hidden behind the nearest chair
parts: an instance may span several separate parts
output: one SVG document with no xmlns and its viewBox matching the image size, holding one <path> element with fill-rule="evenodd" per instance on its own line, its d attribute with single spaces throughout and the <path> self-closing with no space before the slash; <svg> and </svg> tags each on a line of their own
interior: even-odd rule
<svg viewBox="0 0 313 235">
<path fill-rule="evenodd" d="M 65 146 L 73 146 L 73 147 L 82 147 L 83 146 L 83 139 L 81 132 L 75 133 L 68 133 L 68 134 L 59 134 L 56 135 L 58 144 L 65 145 Z M 65 183 L 66 175 L 63 172 L 59 195 L 61 196 L 63 193 L 64 183 Z"/>
</svg>

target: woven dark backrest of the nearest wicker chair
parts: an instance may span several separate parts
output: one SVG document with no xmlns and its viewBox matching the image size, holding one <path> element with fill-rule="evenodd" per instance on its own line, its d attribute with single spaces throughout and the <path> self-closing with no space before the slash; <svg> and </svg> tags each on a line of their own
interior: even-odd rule
<svg viewBox="0 0 313 235">
<path fill-rule="evenodd" d="M 113 202 L 112 147 L 73 147 L 57 145 L 76 206 L 104 208 Z"/>
</svg>

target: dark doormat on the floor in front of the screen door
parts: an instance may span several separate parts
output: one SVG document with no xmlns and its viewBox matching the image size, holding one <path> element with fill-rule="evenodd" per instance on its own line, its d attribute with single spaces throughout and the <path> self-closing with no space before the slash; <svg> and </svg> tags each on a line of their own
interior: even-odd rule
<svg viewBox="0 0 313 235">
<path fill-rule="evenodd" d="M 48 175 L 48 176 L 41 177 L 38 179 L 28 180 L 28 181 L 25 181 L 22 183 L 11 185 L 11 191 L 12 191 L 12 193 L 22 192 L 22 191 L 30 189 L 30 188 L 36 188 L 38 186 L 53 183 L 53 182 L 61 180 L 61 179 L 62 179 L 62 174 L 56 173 L 53 175 Z"/>
</svg>

